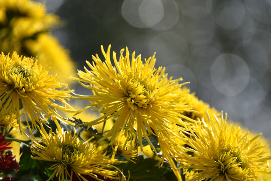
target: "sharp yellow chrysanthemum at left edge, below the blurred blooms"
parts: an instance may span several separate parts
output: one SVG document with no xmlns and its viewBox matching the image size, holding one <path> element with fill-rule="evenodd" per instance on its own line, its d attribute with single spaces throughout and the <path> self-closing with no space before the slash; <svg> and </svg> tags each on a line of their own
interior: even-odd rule
<svg viewBox="0 0 271 181">
<path fill-rule="evenodd" d="M 19 56 L 16 52 L 12 58 L 4 53 L 0 55 L 0 115 L 17 115 L 19 125 L 22 113 L 28 127 L 29 119 L 36 128 L 37 123 L 43 123 L 51 115 L 67 123 L 56 112 L 56 109 L 73 112 L 65 101 L 69 98 L 69 91 L 58 89 L 62 85 L 56 75 L 49 75 L 33 58 Z"/>
</svg>

